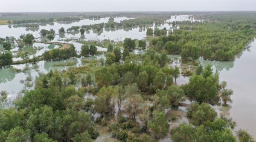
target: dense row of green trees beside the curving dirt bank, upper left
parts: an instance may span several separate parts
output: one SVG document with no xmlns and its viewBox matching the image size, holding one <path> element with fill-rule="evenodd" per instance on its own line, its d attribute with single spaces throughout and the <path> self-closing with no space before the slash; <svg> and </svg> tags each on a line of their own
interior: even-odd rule
<svg viewBox="0 0 256 142">
<path fill-rule="evenodd" d="M 75 58 L 77 57 L 76 48 L 73 44 L 70 44 L 70 48 L 51 49 L 49 51 L 45 51 L 43 57 L 46 61 L 60 61 Z"/>
</svg>

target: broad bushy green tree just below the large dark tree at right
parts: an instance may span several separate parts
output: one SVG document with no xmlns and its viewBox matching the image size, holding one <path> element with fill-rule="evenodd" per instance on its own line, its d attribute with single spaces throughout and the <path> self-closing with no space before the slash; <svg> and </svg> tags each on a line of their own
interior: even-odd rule
<svg viewBox="0 0 256 142">
<path fill-rule="evenodd" d="M 192 118 L 192 124 L 199 126 L 207 121 L 213 122 L 217 116 L 217 112 L 207 103 L 202 103 L 201 105 L 192 103 L 187 116 Z"/>
</svg>

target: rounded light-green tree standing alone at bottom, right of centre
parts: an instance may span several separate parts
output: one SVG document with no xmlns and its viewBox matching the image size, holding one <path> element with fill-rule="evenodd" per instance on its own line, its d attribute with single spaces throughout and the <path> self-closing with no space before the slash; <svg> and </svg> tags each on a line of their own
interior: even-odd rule
<svg viewBox="0 0 256 142">
<path fill-rule="evenodd" d="M 155 112 L 153 120 L 149 122 L 148 126 L 156 138 L 166 136 L 169 131 L 169 123 L 163 112 Z"/>
</svg>

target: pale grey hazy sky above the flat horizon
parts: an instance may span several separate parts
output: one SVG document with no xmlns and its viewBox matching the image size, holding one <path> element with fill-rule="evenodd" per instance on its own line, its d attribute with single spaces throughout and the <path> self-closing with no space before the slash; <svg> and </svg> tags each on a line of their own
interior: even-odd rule
<svg viewBox="0 0 256 142">
<path fill-rule="evenodd" d="M 256 11 L 256 0 L 0 0 L 0 12 Z"/>
</svg>

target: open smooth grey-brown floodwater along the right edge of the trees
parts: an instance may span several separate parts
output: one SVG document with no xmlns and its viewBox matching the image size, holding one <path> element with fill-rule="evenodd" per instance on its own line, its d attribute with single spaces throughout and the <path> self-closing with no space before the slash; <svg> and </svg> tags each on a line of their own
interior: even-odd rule
<svg viewBox="0 0 256 142">
<path fill-rule="evenodd" d="M 227 88 L 233 90 L 230 108 L 218 107 L 237 122 L 236 129 L 247 130 L 256 138 L 256 40 L 250 48 L 232 62 L 201 60 L 202 65 L 211 64 L 219 71 L 220 82 L 226 81 Z"/>
</svg>

